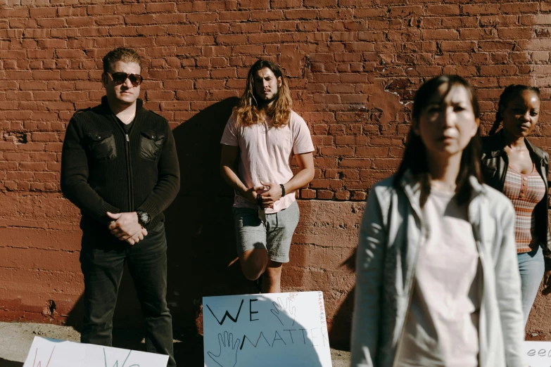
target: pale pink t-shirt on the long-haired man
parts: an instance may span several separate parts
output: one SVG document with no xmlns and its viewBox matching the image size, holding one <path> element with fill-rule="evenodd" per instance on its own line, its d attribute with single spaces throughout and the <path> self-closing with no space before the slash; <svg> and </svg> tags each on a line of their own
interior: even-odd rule
<svg viewBox="0 0 551 367">
<path fill-rule="evenodd" d="M 310 130 L 303 118 L 291 111 L 289 124 L 274 127 L 272 119 L 266 117 L 264 124 L 237 126 L 235 116 L 229 117 L 220 143 L 227 146 L 239 146 L 239 179 L 251 188 L 260 186 L 260 180 L 274 184 L 286 184 L 293 178 L 291 159 L 293 154 L 314 151 Z M 267 208 L 266 214 L 284 210 L 295 201 L 294 191 L 286 193 L 274 203 L 274 208 Z M 235 192 L 234 207 L 256 205 Z"/>
</svg>

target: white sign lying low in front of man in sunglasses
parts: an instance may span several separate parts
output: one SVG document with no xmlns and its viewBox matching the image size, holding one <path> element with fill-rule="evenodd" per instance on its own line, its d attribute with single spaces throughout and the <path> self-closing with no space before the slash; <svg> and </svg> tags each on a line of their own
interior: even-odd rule
<svg viewBox="0 0 551 367">
<path fill-rule="evenodd" d="M 34 337 L 23 367 L 166 367 L 168 356 Z"/>
</svg>

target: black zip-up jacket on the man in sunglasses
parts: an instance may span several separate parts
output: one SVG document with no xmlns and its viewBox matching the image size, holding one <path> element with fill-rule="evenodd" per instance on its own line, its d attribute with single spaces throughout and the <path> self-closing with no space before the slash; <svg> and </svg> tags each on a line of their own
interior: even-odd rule
<svg viewBox="0 0 551 367">
<path fill-rule="evenodd" d="M 82 221 L 106 230 L 107 212 L 147 212 L 146 228 L 165 219 L 163 211 L 180 185 L 174 136 L 164 117 L 142 107 L 128 134 L 101 105 L 72 115 L 61 155 L 61 191 L 82 212 Z M 92 221 L 90 221 L 92 219 Z"/>
</svg>

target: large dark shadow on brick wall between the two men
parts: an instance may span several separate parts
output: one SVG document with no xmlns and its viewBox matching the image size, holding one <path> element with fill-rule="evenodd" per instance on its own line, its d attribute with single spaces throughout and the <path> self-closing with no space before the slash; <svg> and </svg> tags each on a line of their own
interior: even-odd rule
<svg viewBox="0 0 551 367">
<path fill-rule="evenodd" d="M 182 184 L 165 211 L 167 301 L 177 330 L 202 332 L 201 297 L 253 291 L 234 262 L 234 192 L 220 176 L 220 139 L 237 101 L 215 103 L 172 131 Z"/>
</svg>

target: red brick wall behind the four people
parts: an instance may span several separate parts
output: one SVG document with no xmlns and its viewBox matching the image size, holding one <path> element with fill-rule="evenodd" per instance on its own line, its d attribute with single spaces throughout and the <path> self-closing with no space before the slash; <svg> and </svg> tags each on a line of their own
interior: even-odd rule
<svg viewBox="0 0 551 367">
<path fill-rule="evenodd" d="M 284 289 L 324 290 L 331 339 L 346 344 L 362 201 L 400 162 L 407 102 L 424 79 L 467 77 L 484 131 L 504 86 L 540 86 L 533 140 L 551 146 L 547 1 L 404 2 L 2 1 L 0 319 L 80 317 L 79 214 L 58 184 L 63 134 L 77 108 L 103 95 L 101 57 L 130 46 L 144 57 L 146 108 L 170 121 L 182 165 L 182 191 L 167 212 L 175 324 L 200 327 L 202 295 L 248 289 L 232 264 L 232 193 L 217 155 L 248 67 L 264 57 L 284 67 L 316 146 Z M 121 320 L 137 312 L 125 300 Z M 528 328 L 548 333 L 551 309 L 540 299 L 536 309 L 544 311 Z"/>
</svg>

